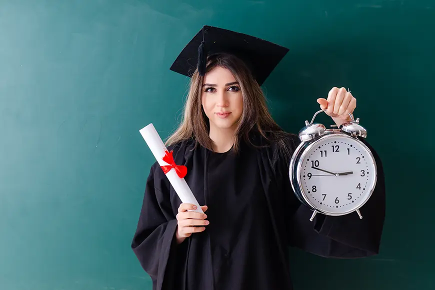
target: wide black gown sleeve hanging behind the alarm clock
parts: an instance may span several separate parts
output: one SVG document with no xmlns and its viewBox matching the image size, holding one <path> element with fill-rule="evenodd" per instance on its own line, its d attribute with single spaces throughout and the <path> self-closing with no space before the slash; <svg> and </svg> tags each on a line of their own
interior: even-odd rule
<svg viewBox="0 0 435 290">
<path fill-rule="evenodd" d="M 333 258 L 358 258 L 379 253 L 379 245 L 385 217 L 385 180 L 383 166 L 377 152 L 368 144 L 377 165 L 377 182 L 371 197 L 360 208 L 362 219 L 356 212 L 342 216 L 326 216 L 317 213 L 310 221 L 312 210 L 295 197 L 288 179 L 284 181 L 290 246 L 298 247 L 316 255 Z M 298 142 L 297 142 L 298 143 Z M 293 148 L 294 149 L 294 148 Z M 282 163 L 281 163 L 282 164 Z"/>
</svg>

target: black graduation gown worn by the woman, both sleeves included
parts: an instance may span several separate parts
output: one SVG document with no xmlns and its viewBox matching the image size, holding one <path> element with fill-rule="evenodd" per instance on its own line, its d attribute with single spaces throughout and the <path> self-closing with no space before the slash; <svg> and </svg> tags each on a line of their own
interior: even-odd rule
<svg viewBox="0 0 435 290">
<path fill-rule="evenodd" d="M 257 138 L 258 140 L 258 138 Z M 158 163 L 150 169 L 132 249 L 155 290 L 292 289 L 287 246 L 334 258 L 377 254 L 384 221 L 381 161 L 370 199 L 344 216 L 317 214 L 295 197 L 288 158 L 276 144 L 241 143 L 239 154 L 212 152 L 193 140 L 169 147 L 200 205 L 207 205 L 205 230 L 176 244 L 175 218 L 181 203 Z M 287 139 L 294 151 L 297 136 Z M 260 141 L 259 144 L 264 144 Z"/>
</svg>

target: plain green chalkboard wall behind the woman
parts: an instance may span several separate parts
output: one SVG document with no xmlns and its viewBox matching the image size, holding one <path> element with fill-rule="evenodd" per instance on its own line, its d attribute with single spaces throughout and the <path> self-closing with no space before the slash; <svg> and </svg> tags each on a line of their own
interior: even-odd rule
<svg viewBox="0 0 435 290">
<path fill-rule="evenodd" d="M 0 288 L 151 289 L 130 249 L 154 162 L 138 130 L 179 120 L 168 68 L 203 24 L 290 49 L 263 86 L 289 131 L 350 88 L 382 158 L 381 253 L 291 250 L 295 289 L 433 289 L 433 0 L 2 0 Z"/>
</svg>

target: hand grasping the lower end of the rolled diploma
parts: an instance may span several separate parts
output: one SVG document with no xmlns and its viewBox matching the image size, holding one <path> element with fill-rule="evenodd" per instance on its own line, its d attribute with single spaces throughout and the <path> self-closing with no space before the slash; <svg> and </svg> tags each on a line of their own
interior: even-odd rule
<svg viewBox="0 0 435 290">
<path fill-rule="evenodd" d="M 186 237 L 190 236 L 193 232 L 200 232 L 205 229 L 205 225 L 209 222 L 205 220 L 207 215 L 196 211 L 187 210 L 196 209 L 196 205 L 191 203 L 181 203 L 178 207 L 177 229 L 176 229 L 176 242 L 181 243 Z M 207 210 L 207 205 L 201 206 L 203 212 Z"/>
</svg>

